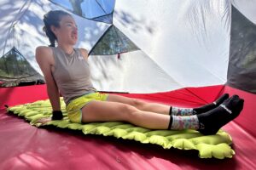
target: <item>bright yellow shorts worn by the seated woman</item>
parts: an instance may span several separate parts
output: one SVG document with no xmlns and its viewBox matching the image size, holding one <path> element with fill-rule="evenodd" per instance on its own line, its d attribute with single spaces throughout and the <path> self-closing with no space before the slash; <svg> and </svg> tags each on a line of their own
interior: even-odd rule
<svg viewBox="0 0 256 170">
<path fill-rule="evenodd" d="M 100 94 L 98 92 L 92 94 L 84 94 L 83 96 L 71 100 L 67 107 L 67 116 L 71 122 L 82 122 L 82 108 L 89 104 L 92 100 L 106 101 L 108 94 Z"/>
</svg>

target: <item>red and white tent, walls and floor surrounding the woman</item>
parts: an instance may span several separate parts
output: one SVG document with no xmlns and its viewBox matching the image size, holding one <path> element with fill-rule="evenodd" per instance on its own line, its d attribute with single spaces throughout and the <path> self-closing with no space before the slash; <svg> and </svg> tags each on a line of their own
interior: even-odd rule
<svg viewBox="0 0 256 170">
<path fill-rule="evenodd" d="M 0 88 L 0 167 L 255 169 L 255 4 L 255 0 L 1 1 L 1 82 L 43 78 L 34 58 L 36 47 L 49 44 L 42 31 L 43 15 L 62 9 L 77 21 L 76 47 L 90 51 L 92 81 L 98 90 L 188 107 L 212 102 L 223 93 L 239 94 L 245 107 L 224 127 L 233 138 L 236 156 L 201 161 L 193 153 L 30 127 L 7 116 L 3 105 L 47 99 L 45 85 Z M 16 57 L 9 61 L 6 56 L 13 51 Z M 28 66 L 17 66 L 21 61 Z M 6 66 L 12 69 L 4 70 Z M 30 71 L 14 71 L 24 72 L 18 76 L 8 72 L 28 67 Z"/>
</svg>

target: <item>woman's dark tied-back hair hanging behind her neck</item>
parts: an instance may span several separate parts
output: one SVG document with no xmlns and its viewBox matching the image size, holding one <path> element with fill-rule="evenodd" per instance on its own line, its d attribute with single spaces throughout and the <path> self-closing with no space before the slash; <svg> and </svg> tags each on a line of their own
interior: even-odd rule
<svg viewBox="0 0 256 170">
<path fill-rule="evenodd" d="M 55 33 L 50 30 L 50 26 L 60 27 L 60 21 L 63 16 L 69 15 L 65 11 L 62 10 L 51 10 L 47 14 L 44 14 L 44 28 L 46 36 L 49 38 L 49 47 L 55 47 L 55 41 L 57 41 L 57 37 Z"/>
</svg>

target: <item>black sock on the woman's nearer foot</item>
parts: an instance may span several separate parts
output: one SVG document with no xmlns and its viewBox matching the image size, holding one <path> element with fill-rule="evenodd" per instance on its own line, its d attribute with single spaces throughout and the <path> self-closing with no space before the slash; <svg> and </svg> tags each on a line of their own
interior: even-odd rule
<svg viewBox="0 0 256 170">
<path fill-rule="evenodd" d="M 198 131 L 206 135 L 217 133 L 219 128 L 240 114 L 243 102 L 244 100 L 240 99 L 239 96 L 233 95 L 212 111 L 197 115 L 200 123 Z"/>
</svg>

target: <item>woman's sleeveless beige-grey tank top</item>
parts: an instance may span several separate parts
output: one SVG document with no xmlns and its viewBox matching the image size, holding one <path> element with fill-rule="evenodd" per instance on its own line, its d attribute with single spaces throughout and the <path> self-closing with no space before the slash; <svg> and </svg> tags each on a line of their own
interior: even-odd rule
<svg viewBox="0 0 256 170">
<path fill-rule="evenodd" d="M 52 73 L 66 105 L 84 94 L 96 92 L 90 82 L 89 64 L 78 48 L 66 54 L 61 48 L 52 48 L 55 70 Z"/>
</svg>

